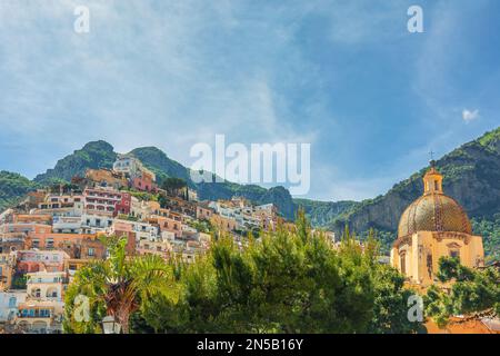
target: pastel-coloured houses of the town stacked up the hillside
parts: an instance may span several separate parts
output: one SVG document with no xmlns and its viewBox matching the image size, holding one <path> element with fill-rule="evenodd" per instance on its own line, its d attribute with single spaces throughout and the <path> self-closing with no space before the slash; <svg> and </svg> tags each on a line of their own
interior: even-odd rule
<svg viewBox="0 0 500 356">
<path fill-rule="evenodd" d="M 189 264 L 211 236 L 230 234 L 242 246 L 278 224 L 289 222 L 272 204 L 199 201 L 189 187 L 160 186 L 138 159 L 120 155 L 112 169 L 29 192 L 0 215 L 0 330 L 62 333 L 64 290 L 82 266 L 107 258 L 107 237 L 124 237 L 129 256 Z"/>
</svg>

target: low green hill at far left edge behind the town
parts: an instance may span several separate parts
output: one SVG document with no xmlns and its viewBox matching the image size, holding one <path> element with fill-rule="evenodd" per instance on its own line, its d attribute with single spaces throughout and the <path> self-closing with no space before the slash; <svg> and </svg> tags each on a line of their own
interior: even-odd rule
<svg viewBox="0 0 500 356">
<path fill-rule="evenodd" d="M 19 174 L 0 171 L 0 212 L 14 206 L 24 195 L 36 188 L 36 182 Z"/>
</svg>

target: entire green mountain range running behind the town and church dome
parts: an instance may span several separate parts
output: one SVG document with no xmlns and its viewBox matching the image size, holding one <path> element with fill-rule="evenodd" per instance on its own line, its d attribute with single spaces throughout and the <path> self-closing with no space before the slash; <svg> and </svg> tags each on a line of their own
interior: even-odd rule
<svg viewBox="0 0 500 356">
<path fill-rule="evenodd" d="M 293 219 L 302 207 L 313 226 L 328 227 L 341 235 L 346 224 L 363 235 L 370 228 L 379 230 L 386 248 L 396 236 L 402 211 L 423 190 L 422 176 L 428 167 L 408 179 L 394 185 L 387 194 L 374 199 L 356 201 L 314 201 L 292 199 L 283 187 L 270 189 L 256 185 L 233 182 L 196 184 L 189 168 L 169 158 L 156 147 L 141 147 L 130 151 L 142 164 L 154 171 L 158 180 L 167 177 L 184 179 L 198 191 L 200 199 L 230 199 L 242 196 L 256 204 L 272 202 L 288 219 Z M 33 181 L 11 172 L 0 172 L 0 208 L 18 201 L 27 191 L 53 181 L 69 181 L 82 176 L 88 168 L 111 168 L 117 158 L 113 147 L 106 141 L 92 141 L 82 149 L 60 159 L 53 169 L 48 169 Z M 444 175 L 444 192 L 456 198 L 472 218 L 478 234 L 491 236 L 486 246 L 497 248 L 500 240 L 500 128 L 464 144 L 437 161 L 437 168 Z"/>
</svg>

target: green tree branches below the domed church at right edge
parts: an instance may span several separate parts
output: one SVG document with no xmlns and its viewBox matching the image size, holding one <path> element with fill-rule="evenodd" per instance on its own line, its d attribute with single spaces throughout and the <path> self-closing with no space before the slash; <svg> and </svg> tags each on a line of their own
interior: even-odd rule
<svg viewBox="0 0 500 356">
<path fill-rule="evenodd" d="M 438 278 L 444 285 L 431 286 L 424 297 L 426 313 L 438 326 L 446 326 L 453 315 L 469 318 L 500 315 L 500 271 L 497 268 L 471 269 L 461 266 L 458 258 L 441 258 Z"/>
</svg>

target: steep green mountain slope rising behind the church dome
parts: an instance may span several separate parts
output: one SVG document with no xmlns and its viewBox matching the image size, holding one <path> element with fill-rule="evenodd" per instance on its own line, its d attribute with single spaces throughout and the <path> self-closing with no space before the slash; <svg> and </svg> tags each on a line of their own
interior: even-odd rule
<svg viewBox="0 0 500 356">
<path fill-rule="evenodd" d="M 422 195 L 422 176 L 429 167 L 397 184 L 386 195 L 361 201 L 329 225 L 340 233 L 344 225 L 356 231 L 376 228 L 396 233 L 403 210 Z M 500 127 L 462 145 L 437 161 L 444 176 L 444 192 L 460 202 L 469 217 L 493 219 L 500 211 Z"/>
</svg>

